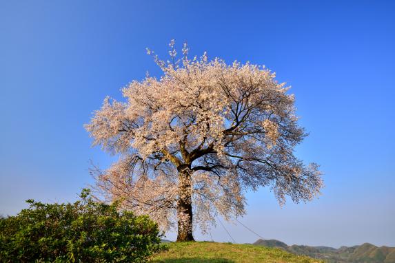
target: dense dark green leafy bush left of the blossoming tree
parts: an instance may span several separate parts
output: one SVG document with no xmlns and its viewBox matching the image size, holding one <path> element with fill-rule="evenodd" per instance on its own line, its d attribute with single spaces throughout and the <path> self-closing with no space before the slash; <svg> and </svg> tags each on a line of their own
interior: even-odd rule
<svg viewBox="0 0 395 263">
<path fill-rule="evenodd" d="M 1 262 L 145 262 L 162 248 L 148 216 L 94 202 L 88 189 L 74 204 L 27 200 L 29 209 L 0 218 Z"/>
</svg>

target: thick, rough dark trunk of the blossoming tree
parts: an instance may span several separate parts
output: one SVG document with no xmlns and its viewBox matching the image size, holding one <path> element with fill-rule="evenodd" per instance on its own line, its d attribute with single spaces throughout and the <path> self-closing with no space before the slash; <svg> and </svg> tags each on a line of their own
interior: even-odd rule
<svg viewBox="0 0 395 263">
<path fill-rule="evenodd" d="M 194 241 L 192 235 L 192 171 L 190 167 L 179 170 L 179 200 L 177 200 L 177 242 Z"/>
</svg>

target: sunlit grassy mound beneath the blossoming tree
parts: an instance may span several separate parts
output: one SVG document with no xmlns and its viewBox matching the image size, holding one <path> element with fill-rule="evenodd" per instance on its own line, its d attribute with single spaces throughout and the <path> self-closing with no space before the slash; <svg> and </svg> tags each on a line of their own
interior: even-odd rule
<svg viewBox="0 0 395 263">
<path fill-rule="evenodd" d="M 303 255 L 294 255 L 281 249 L 254 246 L 252 244 L 231 244 L 216 242 L 172 242 L 168 251 L 151 258 L 151 262 L 180 263 L 230 263 L 230 262 L 268 262 L 268 263 L 314 263 L 323 262 Z"/>
</svg>

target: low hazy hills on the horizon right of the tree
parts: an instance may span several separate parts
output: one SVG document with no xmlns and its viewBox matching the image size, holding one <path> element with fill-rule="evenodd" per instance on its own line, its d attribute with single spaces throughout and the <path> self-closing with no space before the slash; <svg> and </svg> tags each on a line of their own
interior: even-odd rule
<svg viewBox="0 0 395 263">
<path fill-rule="evenodd" d="M 330 246 L 288 246 L 278 240 L 256 240 L 257 246 L 276 247 L 298 255 L 308 255 L 323 259 L 330 263 L 395 263 L 395 248 L 389 246 L 374 246 L 365 243 L 361 246 L 341 246 L 334 249 Z"/>
</svg>

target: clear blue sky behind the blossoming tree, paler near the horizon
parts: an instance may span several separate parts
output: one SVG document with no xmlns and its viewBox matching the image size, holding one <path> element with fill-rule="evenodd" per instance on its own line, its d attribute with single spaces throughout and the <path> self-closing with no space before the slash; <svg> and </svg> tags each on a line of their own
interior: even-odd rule
<svg viewBox="0 0 395 263">
<path fill-rule="evenodd" d="M 165 57 L 176 39 L 292 85 L 310 131 L 297 155 L 325 172 L 307 204 L 248 193 L 241 222 L 288 244 L 395 246 L 394 13 L 394 1 L 373 0 L 1 1 L 0 213 L 75 200 L 92 183 L 89 160 L 114 160 L 90 147 L 83 123 L 105 96 L 159 74 L 145 47 Z M 257 239 L 226 226 L 236 242 Z M 230 241 L 220 224 L 212 235 Z"/>
</svg>

